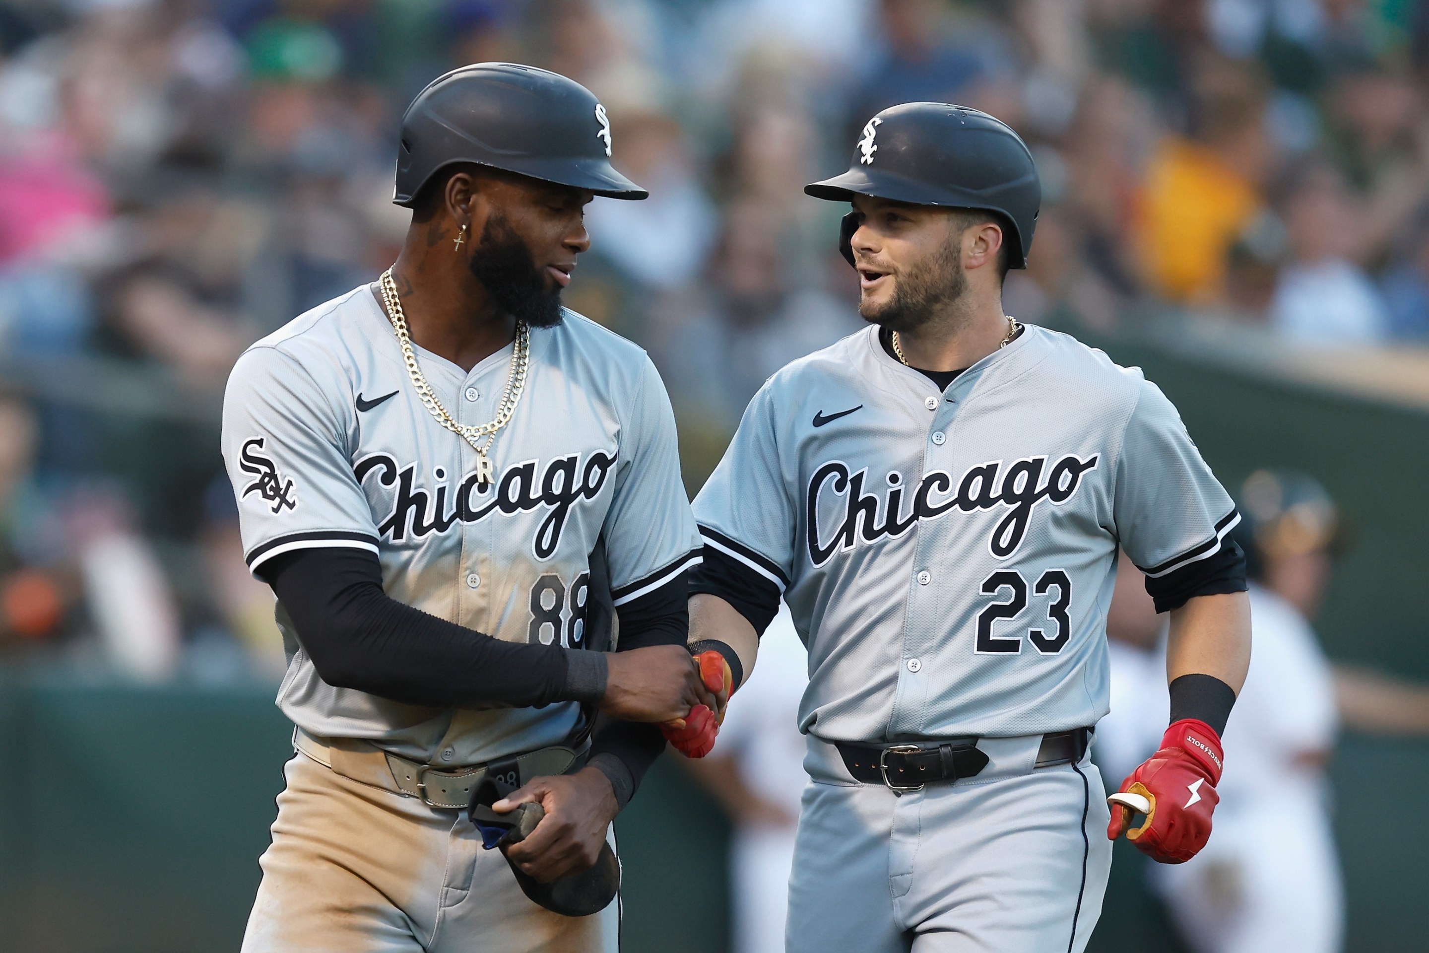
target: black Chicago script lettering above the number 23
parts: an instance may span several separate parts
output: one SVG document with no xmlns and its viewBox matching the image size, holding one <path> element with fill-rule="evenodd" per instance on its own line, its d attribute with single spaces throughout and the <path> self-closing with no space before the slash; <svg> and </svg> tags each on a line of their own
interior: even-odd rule
<svg viewBox="0 0 1429 953">
<path fill-rule="evenodd" d="M 913 490 L 912 506 L 903 514 L 905 484 L 897 471 L 889 473 L 889 490 L 883 499 L 865 490 L 867 470 L 849 473 L 842 460 L 830 460 L 809 480 L 806 496 L 806 524 L 809 560 L 815 566 L 829 562 L 839 550 L 849 550 L 859 542 L 873 543 L 885 536 L 902 536 L 919 520 L 943 516 L 952 509 L 962 513 L 976 513 L 995 507 L 1007 507 L 987 539 L 987 549 L 997 559 L 1012 556 L 1027 534 L 1032 512 L 1042 500 L 1066 503 L 1076 493 L 1082 476 L 1096 469 L 1097 457 L 1086 460 L 1067 454 L 1046 470 L 1047 457 L 1026 457 L 1015 460 L 1003 470 L 1002 460 L 979 463 L 969 467 L 953 490 L 953 479 L 943 470 L 933 470 L 919 480 Z M 1046 482 L 1042 474 L 1046 470 Z M 1000 476 L 1000 479 L 999 479 Z M 843 497 L 843 520 L 827 539 L 820 537 L 820 502 L 829 496 Z M 880 514 L 882 512 L 882 522 Z"/>
</svg>

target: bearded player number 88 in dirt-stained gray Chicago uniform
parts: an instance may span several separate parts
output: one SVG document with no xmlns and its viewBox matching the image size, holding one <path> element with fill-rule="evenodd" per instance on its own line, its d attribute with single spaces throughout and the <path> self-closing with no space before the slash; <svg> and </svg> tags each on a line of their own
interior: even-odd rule
<svg viewBox="0 0 1429 953">
<path fill-rule="evenodd" d="M 562 76 L 433 81 L 397 263 L 233 370 L 224 459 L 297 749 L 244 950 L 617 949 L 610 822 L 653 723 L 714 697 L 664 387 L 560 306 L 584 204 L 646 196 L 610 141 Z"/>
</svg>

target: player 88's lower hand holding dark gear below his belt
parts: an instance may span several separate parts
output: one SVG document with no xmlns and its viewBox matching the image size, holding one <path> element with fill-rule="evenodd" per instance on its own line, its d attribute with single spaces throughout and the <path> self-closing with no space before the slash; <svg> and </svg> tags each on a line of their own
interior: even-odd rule
<svg viewBox="0 0 1429 953">
<path fill-rule="evenodd" d="M 539 803 L 546 816 L 530 836 L 502 850 L 542 883 L 593 867 L 606 829 L 620 810 L 610 780 L 594 767 L 537 777 L 492 804 L 492 810 L 504 814 L 524 802 Z"/>
</svg>

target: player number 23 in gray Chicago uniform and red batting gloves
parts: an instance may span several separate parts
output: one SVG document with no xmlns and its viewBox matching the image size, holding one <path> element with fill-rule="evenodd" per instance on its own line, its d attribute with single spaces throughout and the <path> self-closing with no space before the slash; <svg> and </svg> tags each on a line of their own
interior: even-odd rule
<svg viewBox="0 0 1429 953">
<path fill-rule="evenodd" d="M 755 396 L 694 502 L 690 602 L 736 687 L 780 597 L 809 647 L 787 949 L 1082 950 L 1109 837 L 1135 817 L 1175 862 L 1209 836 L 1249 660 L 1235 506 L 1136 369 L 1003 314 L 1040 199 L 1007 126 L 896 106 L 806 191 L 853 204 L 872 326 Z M 1109 816 L 1117 546 L 1170 612 L 1173 724 Z"/>
</svg>

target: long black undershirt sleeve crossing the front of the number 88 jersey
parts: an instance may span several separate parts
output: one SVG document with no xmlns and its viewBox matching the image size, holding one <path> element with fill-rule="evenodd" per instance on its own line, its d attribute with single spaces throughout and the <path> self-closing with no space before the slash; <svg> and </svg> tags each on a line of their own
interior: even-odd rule
<svg viewBox="0 0 1429 953">
<path fill-rule="evenodd" d="M 327 684 L 430 707 L 596 703 L 599 652 L 502 642 L 387 596 L 367 550 L 302 549 L 263 563 L 297 640 Z"/>
</svg>

